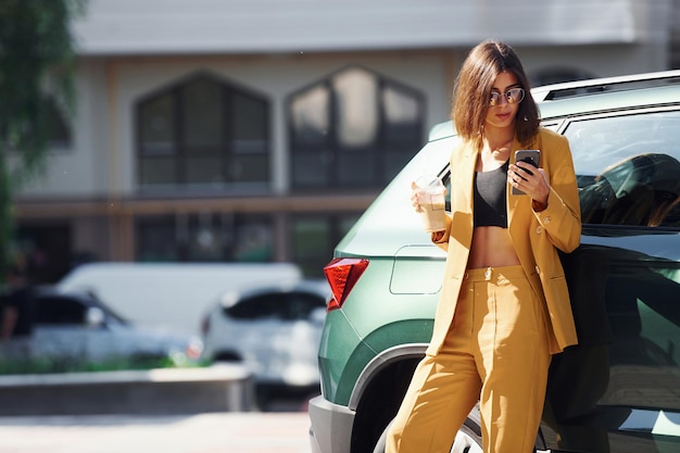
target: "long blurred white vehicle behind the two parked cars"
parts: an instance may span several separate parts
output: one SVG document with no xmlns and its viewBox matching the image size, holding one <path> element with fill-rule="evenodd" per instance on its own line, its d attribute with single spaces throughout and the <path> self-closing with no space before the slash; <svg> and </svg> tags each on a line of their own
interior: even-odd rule
<svg viewBox="0 0 680 453">
<path fill-rule="evenodd" d="M 92 293 L 137 325 L 200 336 L 201 316 L 224 291 L 301 276 L 293 263 L 100 262 L 76 267 L 55 287 Z"/>
</svg>

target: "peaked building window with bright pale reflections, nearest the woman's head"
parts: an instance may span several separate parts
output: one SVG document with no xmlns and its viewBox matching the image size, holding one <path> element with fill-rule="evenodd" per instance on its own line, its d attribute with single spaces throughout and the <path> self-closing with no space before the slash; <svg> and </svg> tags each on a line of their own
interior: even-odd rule
<svg viewBox="0 0 680 453">
<path fill-rule="evenodd" d="M 349 67 L 290 97 L 293 189 L 380 188 L 420 149 L 424 96 Z"/>
</svg>

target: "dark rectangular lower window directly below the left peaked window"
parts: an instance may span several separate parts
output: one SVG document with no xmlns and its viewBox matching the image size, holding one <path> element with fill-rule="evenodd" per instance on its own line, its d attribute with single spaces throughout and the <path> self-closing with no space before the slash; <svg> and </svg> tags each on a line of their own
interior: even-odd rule
<svg viewBox="0 0 680 453">
<path fill-rule="evenodd" d="M 241 262 L 274 260 L 268 216 L 221 213 L 140 217 L 136 260 L 142 262 Z"/>
</svg>

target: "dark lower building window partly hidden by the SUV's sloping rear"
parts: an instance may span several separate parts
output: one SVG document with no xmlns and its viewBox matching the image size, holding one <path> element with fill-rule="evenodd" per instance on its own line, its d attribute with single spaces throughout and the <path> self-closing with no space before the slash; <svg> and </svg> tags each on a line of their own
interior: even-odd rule
<svg viewBox="0 0 680 453">
<path fill-rule="evenodd" d="M 306 215 L 292 219 L 292 261 L 306 277 L 324 276 L 324 266 L 332 260 L 333 249 L 360 215 Z"/>
</svg>

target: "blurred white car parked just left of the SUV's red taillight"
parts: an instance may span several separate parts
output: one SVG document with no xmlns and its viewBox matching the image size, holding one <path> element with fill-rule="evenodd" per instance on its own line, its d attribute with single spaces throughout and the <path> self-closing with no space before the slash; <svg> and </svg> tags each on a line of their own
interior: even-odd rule
<svg viewBox="0 0 680 453">
<path fill-rule="evenodd" d="M 227 291 L 206 313 L 204 356 L 241 362 L 257 385 L 318 386 L 318 343 L 330 289 L 295 280 Z"/>
</svg>

